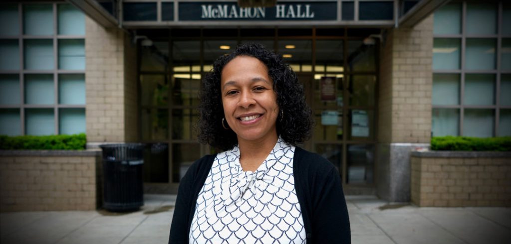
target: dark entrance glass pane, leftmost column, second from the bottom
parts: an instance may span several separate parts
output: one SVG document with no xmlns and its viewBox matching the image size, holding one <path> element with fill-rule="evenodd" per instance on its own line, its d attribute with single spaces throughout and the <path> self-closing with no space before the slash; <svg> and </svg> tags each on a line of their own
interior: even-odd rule
<svg viewBox="0 0 511 244">
<path fill-rule="evenodd" d="M 169 111 L 167 109 L 142 110 L 142 140 L 169 139 Z"/>
</svg>

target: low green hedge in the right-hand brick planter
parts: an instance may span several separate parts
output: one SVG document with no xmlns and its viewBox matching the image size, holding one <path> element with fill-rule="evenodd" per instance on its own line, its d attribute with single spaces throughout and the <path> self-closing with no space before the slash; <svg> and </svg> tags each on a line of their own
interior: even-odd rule
<svg viewBox="0 0 511 244">
<path fill-rule="evenodd" d="M 437 151 L 511 151 L 511 137 L 434 137 L 431 150 Z"/>
</svg>

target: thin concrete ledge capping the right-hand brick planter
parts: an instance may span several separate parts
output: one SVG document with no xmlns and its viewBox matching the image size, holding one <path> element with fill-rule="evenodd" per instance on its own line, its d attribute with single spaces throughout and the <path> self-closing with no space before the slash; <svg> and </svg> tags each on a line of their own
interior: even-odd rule
<svg viewBox="0 0 511 244">
<path fill-rule="evenodd" d="M 507 157 L 511 158 L 511 152 L 494 151 L 414 151 L 414 157 L 447 157 L 447 158 L 479 158 L 479 157 Z"/>
</svg>

